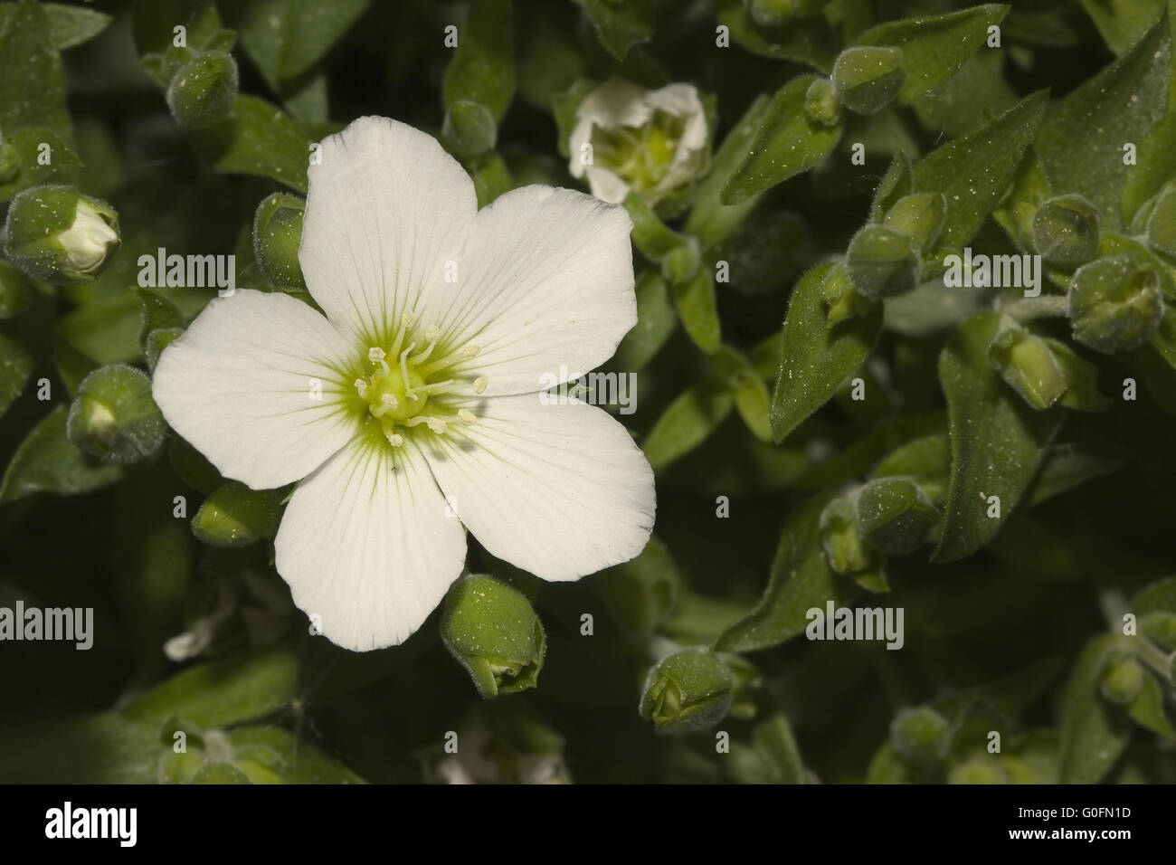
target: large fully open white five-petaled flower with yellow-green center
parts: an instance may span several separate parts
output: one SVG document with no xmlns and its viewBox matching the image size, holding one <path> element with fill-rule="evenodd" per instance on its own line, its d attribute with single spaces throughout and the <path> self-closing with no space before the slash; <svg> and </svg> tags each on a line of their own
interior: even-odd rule
<svg viewBox="0 0 1176 865">
<path fill-rule="evenodd" d="M 383 118 L 320 153 L 299 261 L 326 318 L 239 290 L 154 378 L 168 422 L 225 477 L 301 481 L 274 541 L 294 603 L 369 650 L 436 607 L 462 524 L 548 580 L 636 555 L 654 519 L 641 451 L 600 408 L 537 397 L 543 373 L 594 368 L 636 321 L 624 211 L 547 186 L 477 211 L 440 145 Z"/>
</svg>

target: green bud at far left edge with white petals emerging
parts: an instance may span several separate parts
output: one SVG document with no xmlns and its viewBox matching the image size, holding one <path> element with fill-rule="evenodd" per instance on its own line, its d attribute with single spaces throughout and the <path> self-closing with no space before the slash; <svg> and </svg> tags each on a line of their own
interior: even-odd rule
<svg viewBox="0 0 1176 865">
<path fill-rule="evenodd" d="M 56 285 L 92 281 L 119 247 L 119 214 L 73 186 L 34 186 L 12 200 L 4 251 L 26 275 Z"/>
</svg>

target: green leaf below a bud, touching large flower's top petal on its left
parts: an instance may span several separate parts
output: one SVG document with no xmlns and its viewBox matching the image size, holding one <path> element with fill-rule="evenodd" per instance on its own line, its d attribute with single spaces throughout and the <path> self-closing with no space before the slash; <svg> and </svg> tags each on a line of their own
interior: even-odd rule
<svg viewBox="0 0 1176 865">
<path fill-rule="evenodd" d="M 192 141 L 222 174 L 255 174 L 306 194 L 310 141 L 263 99 L 238 97 L 228 120 L 194 129 Z"/>
</svg>

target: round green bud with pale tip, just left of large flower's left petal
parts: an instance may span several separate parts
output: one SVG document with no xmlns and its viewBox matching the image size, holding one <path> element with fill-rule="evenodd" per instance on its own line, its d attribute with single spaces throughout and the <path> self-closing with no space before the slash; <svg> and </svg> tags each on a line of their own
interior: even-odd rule
<svg viewBox="0 0 1176 865">
<path fill-rule="evenodd" d="M 66 419 L 69 440 L 113 465 L 140 463 L 155 454 L 167 424 L 151 395 L 151 379 L 125 364 L 94 370 L 78 385 Z"/>
</svg>

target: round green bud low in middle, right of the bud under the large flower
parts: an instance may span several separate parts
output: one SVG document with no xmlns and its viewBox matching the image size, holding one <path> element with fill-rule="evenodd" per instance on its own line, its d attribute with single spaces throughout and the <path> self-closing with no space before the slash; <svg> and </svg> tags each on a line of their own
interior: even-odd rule
<svg viewBox="0 0 1176 865">
<path fill-rule="evenodd" d="M 641 717 L 659 733 L 684 733 L 717 724 L 730 708 L 735 679 L 706 648 L 684 648 L 650 668 L 641 694 Z"/>
</svg>

